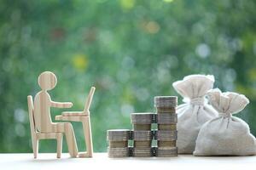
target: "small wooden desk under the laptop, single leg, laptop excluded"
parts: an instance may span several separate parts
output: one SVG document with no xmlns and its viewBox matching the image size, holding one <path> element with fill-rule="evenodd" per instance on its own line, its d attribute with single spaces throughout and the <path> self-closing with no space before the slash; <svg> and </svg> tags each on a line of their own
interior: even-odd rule
<svg viewBox="0 0 256 170">
<path fill-rule="evenodd" d="M 90 116 L 55 116 L 57 121 L 82 122 L 84 130 L 84 140 L 87 151 L 79 152 L 79 157 L 92 157 L 93 146 L 91 143 Z"/>
</svg>

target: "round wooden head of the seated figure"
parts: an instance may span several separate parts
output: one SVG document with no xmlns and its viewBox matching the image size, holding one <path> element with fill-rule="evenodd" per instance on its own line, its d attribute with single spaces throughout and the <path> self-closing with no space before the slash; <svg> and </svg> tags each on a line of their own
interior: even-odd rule
<svg viewBox="0 0 256 170">
<path fill-rule="evenodd" d="M 53 72 L 44 71 L 38 77 L 38 84 L 42 90 L 51 90 L 57 84 L 57 77 Z"/>
</svg>

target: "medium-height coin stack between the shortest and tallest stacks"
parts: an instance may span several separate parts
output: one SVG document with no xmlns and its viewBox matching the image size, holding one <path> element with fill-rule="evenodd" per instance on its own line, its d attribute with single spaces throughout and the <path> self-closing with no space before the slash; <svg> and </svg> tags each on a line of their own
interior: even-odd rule
<svg viewBox="0 0 256 170">
<path fill-rule="evenodd" d="M 151 123 L 154 113 L 131 113 L 131 123 L 133 124 L 133 156 L 152 156 L 151 143 Z"/>
</svg>

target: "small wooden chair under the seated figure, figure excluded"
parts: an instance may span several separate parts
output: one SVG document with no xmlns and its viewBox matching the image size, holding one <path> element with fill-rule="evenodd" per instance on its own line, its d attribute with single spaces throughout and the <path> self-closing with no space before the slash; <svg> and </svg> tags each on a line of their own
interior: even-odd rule
<svg viewBox="0 0 256 170">
<path fill-rule="evenodd" d="M 29 122 L 30 122 L 30 130 L 32 136 L 32 150 L 34 154 L 34 158 L 38 156 L 38 141 L 40 139 L 56 139 L 57 140 L 57 158 L 61 157 L 61 150 L 62 150 L 62 133 L 40 133 L 37 130 L 37 126 L 35 123 L 34 117 L 34 105 L 32 96 L 27 96 L 27 104 L 28 104 L 28 113 L 29 113 Z"/>
</svg>

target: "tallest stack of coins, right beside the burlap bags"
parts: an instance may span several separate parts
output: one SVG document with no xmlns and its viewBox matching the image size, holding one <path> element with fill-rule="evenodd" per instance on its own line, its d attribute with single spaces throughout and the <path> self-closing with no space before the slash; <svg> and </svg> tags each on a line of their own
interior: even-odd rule
<svg viewBox="0 0 256 170">
<path fill-rule="evenodd" d="M 177 156 L 177 96 L 156 96 L 154 97 L 154 107 L 156 108 L 156 122 L 158 130 L 157 149 L 155 156 L 171 157 Z"/>
</svg>

